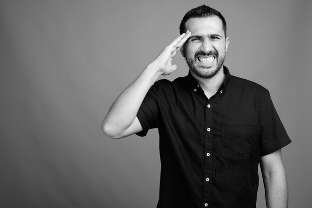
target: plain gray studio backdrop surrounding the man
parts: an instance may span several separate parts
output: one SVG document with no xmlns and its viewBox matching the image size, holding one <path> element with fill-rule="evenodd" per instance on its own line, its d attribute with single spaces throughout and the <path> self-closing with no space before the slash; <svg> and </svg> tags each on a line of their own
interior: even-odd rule
<svg viewBox="0 0 312 208">
<path fill-rule="evenodd" d="M 100 124 L 203 3 L 227 20 L 231 73 L 269 89 L 293 140 L 283 149 L 290 207 L 310 207 L 311 2 L 0 0 L 0 207 L 156 207 L 157 131 L 113 140 Z M 169 80 L 188 71 L 180 54 L 174 63 Z"/>
</svg>

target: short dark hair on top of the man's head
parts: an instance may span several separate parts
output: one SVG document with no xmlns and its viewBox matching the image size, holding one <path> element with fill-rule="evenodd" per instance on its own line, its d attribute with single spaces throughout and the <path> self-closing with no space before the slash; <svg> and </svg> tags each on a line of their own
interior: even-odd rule
<svg viewBox="0 0 312 208">
<path fill-rule="evenodd" d="M 219 11 L 217 11 L 217 10 L 215 10 L 209 6 L 206 6 L 205 4 L 189 10 L 184 15 L 184 17 L 180 23 L 180 28 L 179 28 L 180 34 L 185 32 L 185 23 L 188 19 L 196 18 L 196 17 L 211 17 L 211 16 L 217 16 L 221 19 L 222 25 L 223 25 L 224 35 L 226 37 L 226 22 L 225 22 L 224 17 L 222 16 L 222 14 Z"/>
</svg>

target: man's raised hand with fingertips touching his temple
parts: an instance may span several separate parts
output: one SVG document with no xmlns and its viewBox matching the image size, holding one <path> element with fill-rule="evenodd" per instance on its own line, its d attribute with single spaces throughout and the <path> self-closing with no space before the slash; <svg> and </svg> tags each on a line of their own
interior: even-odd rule
<svg viewBox="0 0 312 208">
<path fill-rule="evenodd" d="M 165 47 L 157 58 L 151 63 L 154 65 L 162 75 L 169 75 L 173 71 L 177 70 L 176 64 L 171 64 L 173 56 L 183 46 L 185 41 L 190 37 L 191 32 L 181 34 L 175 40 L 173 40 L 167 47 Z"/>
</svg>

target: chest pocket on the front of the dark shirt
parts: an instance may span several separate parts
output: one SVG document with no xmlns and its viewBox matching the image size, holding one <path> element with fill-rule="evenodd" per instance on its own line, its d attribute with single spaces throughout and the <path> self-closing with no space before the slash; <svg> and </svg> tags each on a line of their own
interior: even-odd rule
<svg viewBox="0 0 312 208">
<path fill-rule="evenodd" d="M 240 162 L 250 157 L 254 126 L 222 125 L 222 157 Z"/>
</svg>

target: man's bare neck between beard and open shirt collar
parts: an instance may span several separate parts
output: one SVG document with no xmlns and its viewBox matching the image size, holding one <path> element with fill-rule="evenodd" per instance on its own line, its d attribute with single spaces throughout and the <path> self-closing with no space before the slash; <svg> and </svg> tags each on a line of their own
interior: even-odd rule
<svg viewBox="0 0 312 208">
<path fill-rule="evenodd" d="M 225 79 L 223 66 L 215 76 L 208 79 L 200 78 L 196 76 L 192 71 L 190 71 L 190 73 L 197 80 L 198 84 L 200 85 L 208 99 L 218 91 L 219 87 Z"/>
</svg>

